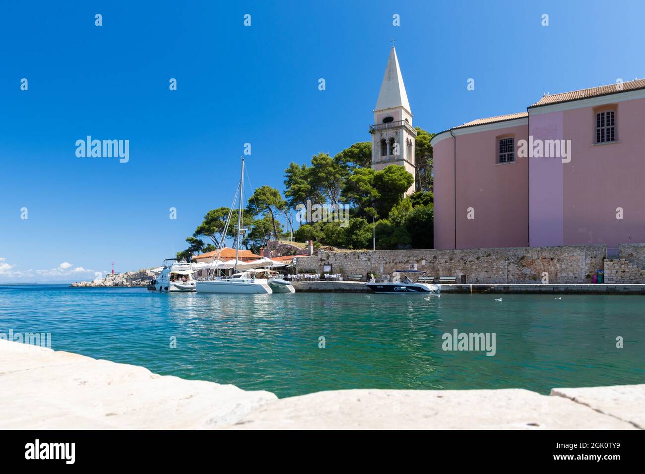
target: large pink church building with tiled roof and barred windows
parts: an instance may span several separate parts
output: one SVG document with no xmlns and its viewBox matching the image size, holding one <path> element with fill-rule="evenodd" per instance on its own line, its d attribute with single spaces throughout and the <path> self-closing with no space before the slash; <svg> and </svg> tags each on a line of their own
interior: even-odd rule
<svg viewBox="0 0 645 474">
<path fill-rule="evenodd" d="M 438 133 L 437 249 L 645 242 L 645 79 Z"/>
</svg>

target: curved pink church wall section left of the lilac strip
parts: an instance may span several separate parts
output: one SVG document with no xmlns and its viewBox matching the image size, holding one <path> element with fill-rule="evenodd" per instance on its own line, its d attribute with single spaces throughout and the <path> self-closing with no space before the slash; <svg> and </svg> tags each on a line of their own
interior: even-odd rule
<svg viewBox="0 0 645 474">
<path fill-rule="evenodd" d="M 526 125 L 457 135 L 457 248 L 528 245 L 526 158 L 496 164 L 497 138 L 526 139 Z M 434 148 L 435 248 L 455 248 L 453 139 Z M 452 181 L 452 183 L 450 183 Z M 473 208 L 475 219 L 468 219 Z"/>
</svg>

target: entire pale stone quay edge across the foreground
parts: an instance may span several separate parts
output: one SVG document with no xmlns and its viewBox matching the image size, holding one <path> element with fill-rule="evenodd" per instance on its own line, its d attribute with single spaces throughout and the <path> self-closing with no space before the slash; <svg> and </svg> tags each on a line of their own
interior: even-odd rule
<svg viewBox="0 0 645 474">
<path fill-rule="evenodd" d="M 522 389 L 268 391 L 161 376 L 0 340 L 2 429 L 645 429 L 645 384 Z"/>
</svg>

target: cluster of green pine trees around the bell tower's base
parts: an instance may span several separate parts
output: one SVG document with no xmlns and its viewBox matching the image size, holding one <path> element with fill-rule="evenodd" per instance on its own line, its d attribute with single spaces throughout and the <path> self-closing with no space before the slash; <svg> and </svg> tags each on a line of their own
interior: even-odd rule
<svg viewBox="0 0 645 474">
<path fill-rule="evenodd" d="M 416 177 L 397 165 L 373 170 L 372 144 L 355 143 L 331 157 L 328 153 L 313 155 L 309 164 L 291 163 L 284 170 L 284 192 L 271 186 L 255 189 L 243 210 L 241 245 L 259 252 L 267 242 L 293 234 L 296 241 L 312 239 L 317 245 L 352 249 L 376 247 L 432 248 L 433 246 L 433 180 L 432 146 L 434 135 L 417 127 L 415 141 Z M 416 191 L 404 193 L 412 183 Z M 313 204 L 350 207 L 348 221 L 303 222 L 293 219 L 300 207 Z M 237 220 L 223 235 L 226 221 L 235 213 L 217 208 L 186 238 L 188 248 L 177 258 L 190 259 L 197 253 L 215 250 L 225 239 L 235 239 Z M 299 226 L 294 220 L 300 221 Z M 286 231 L 283 227 L 286 225 Z M 233 240 L 233 246 L 236 242 Z"/>
</svg>

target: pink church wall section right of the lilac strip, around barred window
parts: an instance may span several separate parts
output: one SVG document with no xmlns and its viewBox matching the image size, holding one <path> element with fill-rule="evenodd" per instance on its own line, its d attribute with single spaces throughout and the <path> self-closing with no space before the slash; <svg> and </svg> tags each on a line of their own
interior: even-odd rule
<svg viewBox="0 0 645 474">
<path fill-rule="evenodd" d="M 565 245 L 645 242 L 645 99 L 613 106 L 619 143 L 595 146 L 594 108 L 562 112 L 572 146 L 571 163 L 562 164 Z"/>
</svg>

